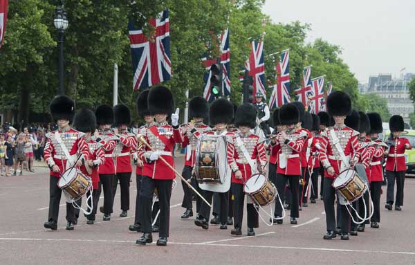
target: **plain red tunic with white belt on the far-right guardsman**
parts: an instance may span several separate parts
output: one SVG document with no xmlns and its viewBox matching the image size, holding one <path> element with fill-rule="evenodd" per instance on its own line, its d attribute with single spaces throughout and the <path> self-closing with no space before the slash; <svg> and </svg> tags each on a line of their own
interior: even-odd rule
<svg viewBox="0 0 415 265">
<path fill-rule="evenodd" d="M 411 144 L 407 138 L 394 138 L 392 139 L 394 146 L 389 147 L 389 154 L 386 159 L 386 170 L 387 171 L 405 171 L 405 144 Z"/>
</svg>

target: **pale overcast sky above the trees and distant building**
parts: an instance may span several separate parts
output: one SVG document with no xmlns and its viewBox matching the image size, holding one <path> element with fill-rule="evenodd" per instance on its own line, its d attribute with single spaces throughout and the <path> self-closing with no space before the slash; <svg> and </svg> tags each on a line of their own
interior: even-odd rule
<svg viewBox="0 0 415 265">
<path fill-rule="evenodd" d="M 266 0 L 275 23 L 311 24 L 306 39 L 342 47 L 342 59 L 361 83 L 369 75 L 415 73 L 415 0 Z"/>
</svg>

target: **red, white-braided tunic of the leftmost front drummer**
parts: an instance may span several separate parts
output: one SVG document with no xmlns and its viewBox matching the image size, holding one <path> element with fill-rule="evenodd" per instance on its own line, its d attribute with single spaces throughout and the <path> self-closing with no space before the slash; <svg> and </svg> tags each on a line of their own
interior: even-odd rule
<svg viewBox="0 0 415 265">
<path fill-rule="evenodd" d="M 80 159 L 83 158 L 84 161 L 86 161 L 89 158 L 89 150 L 83 137 L 84 133 L 72 129 L 71 127 L 67 127 L 64 130 L 58 129 L 57 131 L 46 134 L 46 145 L 44 149 L 45 161 L 50 168 L 50 176 L 60 177 L 60 174 L 63 174 L 66 171 L 66 156 L 62 149 L 62 145 L 58 143 L 56 138 L 57 134 L 62 140 L 62 144 L 68 150 L 70 156 L 80 155 L 82 156 Z M 73 162 L 75 162 L 76 159 L 77 158 L 73 158 Z M 59 167 L 60 173 L 52 171 L 53 165 Z"/>
</svg>

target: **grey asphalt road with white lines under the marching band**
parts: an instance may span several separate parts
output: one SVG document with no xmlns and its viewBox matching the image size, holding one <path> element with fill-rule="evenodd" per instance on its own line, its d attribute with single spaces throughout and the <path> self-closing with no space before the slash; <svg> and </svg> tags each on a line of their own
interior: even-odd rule
<svg viewBox="0 0 415 265">
<path fill-rule="evenodd" d="M 176 159 L 179 172 L 183 158 Z M 415 180 L 405 181 L 405 205 L 401 212 L 381 208 L 380 228 L 367 228 L 349 241 L 325 241 L 322 201 L 300 212 L 297 226 L 266 226 L 260 222 L 255 237 L 232 237 L 228 230 L 194 226 L 194 217 L 181 220 L 181 185 L 172 194 L 170 237 L 167 247 L 136 246 L 140 234 L 129 232 L 133 210 L 120 214 L 116 195 L 111 221 L 97 214 L 94 225 L 82 216 L 75 230 L 65 230 L 64 200 L 58 230 L 43 228 L 48 214 L 48 173 L 37 167 L 35 174 L 0 178 L 0 264 L 415 264 Z M 180 183 L 179 183 L 180 184 Z M 381 202 L 385 202 L 385 187 Z M 118 193 L 120 189 L 118 189 Z M 131 209 L 136 198 L 131 183 Z M 102 199 L 100 204 L 102 205 Z M 289 214 L 287 214 L 289 215 Z M 158 235 L 154 235 L 156 241 Z"/>
</svg>

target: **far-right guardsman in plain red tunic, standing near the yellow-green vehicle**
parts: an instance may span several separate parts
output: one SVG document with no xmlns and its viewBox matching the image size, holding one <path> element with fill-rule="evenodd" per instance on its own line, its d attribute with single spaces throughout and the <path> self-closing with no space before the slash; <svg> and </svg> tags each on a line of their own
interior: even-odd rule
<svg viewBox="0 0 415 265">
<path fill-rule="evenodd" d="M 405 183 L 405 150 L 412 149 L 411 144 L 407 138 L 400 137 L 404 130 L 403 118 L 398 115 L 391 116 L 389 119 L 389 129 L 391 135 L 388 138 L 387 145 L 389 150 L 385 151 L 386 159 L 386 177 L 387 177 L 387 195 L 386 205 L 387 210 L 392 210 L 394 205 L 394 188 L 396 180 L 396 201 L 395 210 L 402 210 L 400 206 L 403 205 L 403 185 Z"/>
</svg>

